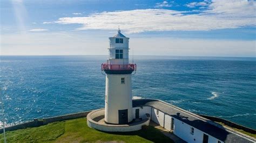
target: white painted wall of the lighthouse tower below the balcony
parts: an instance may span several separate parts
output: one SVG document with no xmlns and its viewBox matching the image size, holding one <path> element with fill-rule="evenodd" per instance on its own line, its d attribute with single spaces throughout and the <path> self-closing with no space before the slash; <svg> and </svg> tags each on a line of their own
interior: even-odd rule
<svg viewBox="0 0 256 143">
<path fill-rule="evenodd" d="M 121 78 L 125 78 L 125 84 Z M 132 121 L 131 74 L 106 74 L 105 121 L 118 124 L 118 110 L 128 109 L 128 121 Z"/>
</svg>

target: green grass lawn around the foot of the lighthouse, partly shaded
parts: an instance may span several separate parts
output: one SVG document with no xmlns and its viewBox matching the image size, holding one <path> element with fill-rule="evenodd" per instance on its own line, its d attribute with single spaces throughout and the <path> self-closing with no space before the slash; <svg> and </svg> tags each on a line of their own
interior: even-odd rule
<svg viewBox="0 0 256 143">
<path fill-rule="evenodd" d="M 134 132 L 100 132 L 87 126 L 86 118 L 6 132 L 7 142 L 173 142 L 158 129 L 149 126 Z M 0 134 L 3 142 L 3 134 Z"/>
</svg>

